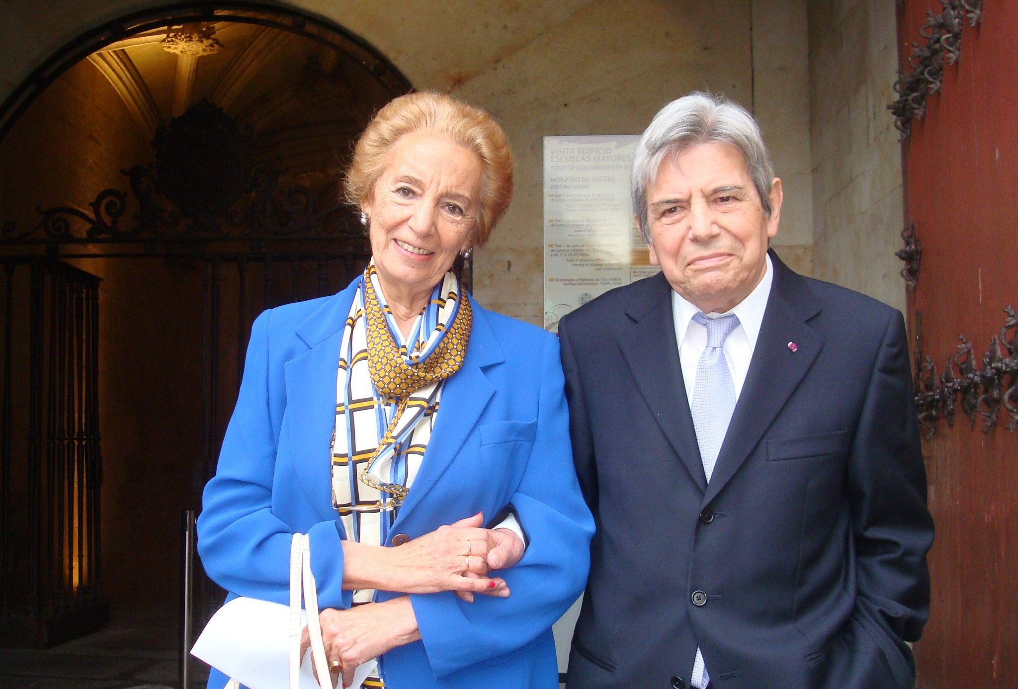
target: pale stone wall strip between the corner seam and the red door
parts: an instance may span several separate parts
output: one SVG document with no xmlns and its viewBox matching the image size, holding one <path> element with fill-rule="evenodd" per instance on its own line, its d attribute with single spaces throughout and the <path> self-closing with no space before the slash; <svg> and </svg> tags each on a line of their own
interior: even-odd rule
<svg viewBox="0 0 1018 689">
<path fill-rule="evenodd" d="M 892 0 L 809 0 L 813 276 L 905 307 Z"/>
</svg>

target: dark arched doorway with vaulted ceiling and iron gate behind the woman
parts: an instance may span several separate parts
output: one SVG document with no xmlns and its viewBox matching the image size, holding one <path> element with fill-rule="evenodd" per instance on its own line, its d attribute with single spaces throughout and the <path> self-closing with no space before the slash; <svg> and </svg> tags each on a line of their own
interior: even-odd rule
<svg viewBox="0 0 1018 689">
<path fill-rule="evenodd" d="M 410 90 L 341 28 L 247 3 L 51 62 L 0 113 L 0 645 L 179 598 L 250 323 L 363 269 L 340 174 Z"/>
</svg>

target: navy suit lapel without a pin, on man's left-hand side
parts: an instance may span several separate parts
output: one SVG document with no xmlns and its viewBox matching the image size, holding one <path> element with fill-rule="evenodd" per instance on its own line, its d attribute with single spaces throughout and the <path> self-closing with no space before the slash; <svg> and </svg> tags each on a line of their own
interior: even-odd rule
<svg viewBox="0 0 1018 689">
<path fill-rule="evenodd" d="M 654 280 L 649 300 L 633 301 L 627 309 L 626 313 L 636 323 L 619 340 L 619 347 L 662 433 L 700 491 L 704 491 L 706 477 L 675 342 L 672 289 L 664 274 L 658 274 Z"/>
</svg>

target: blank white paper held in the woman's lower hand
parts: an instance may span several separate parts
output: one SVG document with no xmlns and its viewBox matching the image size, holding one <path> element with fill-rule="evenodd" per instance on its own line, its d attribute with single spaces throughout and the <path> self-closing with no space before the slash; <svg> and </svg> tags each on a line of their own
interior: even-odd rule
<svg viewBox="0 0 1018 689">
<path fill-rule="evenodd" d="M 191 648 L 191 655 L 250 689 L 289 689 L 290 611 L 286 606 L 257 598 L 230 600 L 212 616 Z M 300 624 L 307 615 L 300 611 Z M 354 687 L 378 664 L 357 667 Z M 299 689 L 319 689 L 312 673 L 310 649 L 300 664 Z"/>
</svg>

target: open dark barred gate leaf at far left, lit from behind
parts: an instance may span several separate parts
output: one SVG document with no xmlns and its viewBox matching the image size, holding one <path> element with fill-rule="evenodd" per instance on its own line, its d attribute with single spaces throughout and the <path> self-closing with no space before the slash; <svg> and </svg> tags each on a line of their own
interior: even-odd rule
<svg viewBox="0 0 1018 689">
<path fill-rule="evenodd" d="M 0 641 L 48 646 L 109 615 L 99 541 L 100 281 L 50 259 L 4 268 Z M 15 311 L 15 296 L 26 311 Z"/>
</svg>

